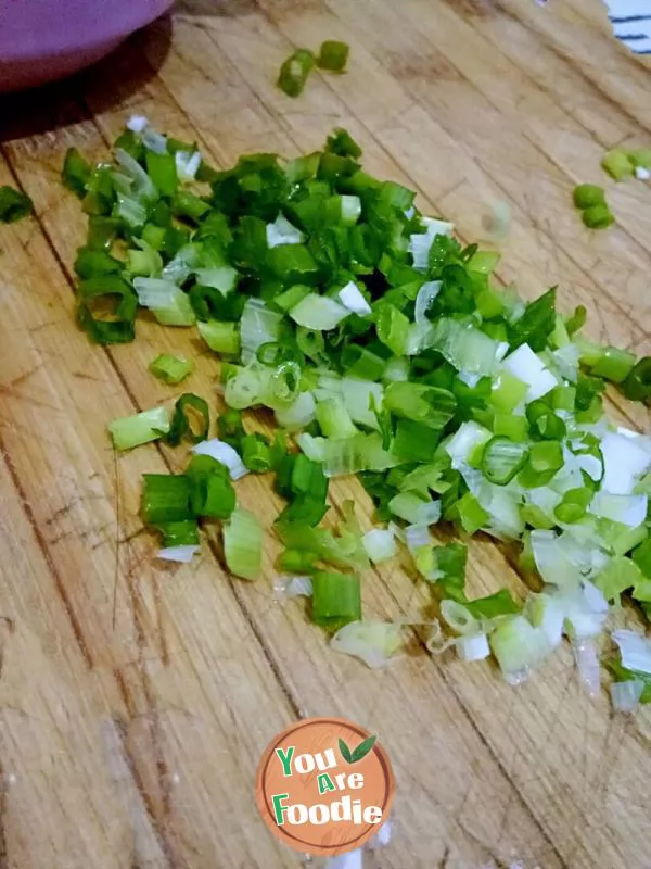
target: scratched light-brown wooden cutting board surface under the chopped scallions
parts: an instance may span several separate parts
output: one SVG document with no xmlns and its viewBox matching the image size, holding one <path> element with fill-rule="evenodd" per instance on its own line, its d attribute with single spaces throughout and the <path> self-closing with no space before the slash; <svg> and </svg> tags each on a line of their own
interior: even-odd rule
<svg viewBox="0 0 651 869">
<path fill-rule="evenodd" d="M 348 74 L 315 74 L 288 100 L 280 63 L 324 38 L 350 43 Z M 190 566 L 152 558 L 140 475 L 184 453 L 116 458 L 105 425 L 174 400 L 146 370 L 157 353 L 196 356 L 188 388 L 218 403 L 216 366 L 184 330 L 146 320 L 133 344 L 88 343 L 72 281 L 85 219 L 59 185 L 66 148 L 105 156 L 133 111 L 221 166 L 315 149 L 344 125 L 370 172 L 417 189 L 465 239 L 509 201 L 499 279 L 528 297 L 558 282 L 596 338 L 649 353 L 651 191 L 607 185 L 617 225 L 604 234 L 570 204 L 577 181 L 602 179 L 604 148 L 649 143 L 649 73 L 589 0 L 183 0 L 90 73 L 8 103 L 0 184 L 25 189 L 37 218 L 0 232 L 0 869 L 301 866 L 257 816 L 255 769 L 276 732 L 319 714 L 378 732 L 394 764 L 394 837 L 371 866 L 649 869 L 651 718 L 582 694 L 569 650 L 518 691 L 489 665 L 430 659 L 418 633 L 372 672 L 331 653 L 301 605 L 273 602 L 271 534 L 258 583 L 230 579 L 216 541 Z M 648 427 L 616 396 L 612 412 Z M 239 492 L 269 526 L 269 481 Z M 335 513 L 347 498 L 369 525 L 355 481 L 333 486 Z M 522 595 L 511 564 L 473 541 L 472 591 Z M 427 613 L 393 564 L 365 578 L 363 604 Z"/>
</svg>

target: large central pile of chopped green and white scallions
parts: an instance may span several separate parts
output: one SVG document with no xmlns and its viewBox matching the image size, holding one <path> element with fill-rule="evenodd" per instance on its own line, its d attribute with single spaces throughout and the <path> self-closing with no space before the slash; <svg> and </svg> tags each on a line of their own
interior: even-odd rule
<svg viewBox="0 0 651 869">
<path fill-rule="evenodd" d="M 399 625 L 361 620 L 360 587 L 398 541 L 451 634 L 431 648 L 451 642 L 468 660 L 493 652 L 520 681 L 567 635 L 596 690 L 609 605 L 627 593 L 651 612 L 651 438 L 610 423 L 602 393 L 611 382 L 647 402 L 651 358 L 583 337 L 585 310 L 557 312 L 554 288 L 525 303 L 498 287 L 499 255 L 463 247 L 412 191 L 367 174 L 345 130 L 319 152 L 254 154 L 219 172 L 144 118 L 128 127 L 113 162 L 93 167 L 76 151 L 65 161 L 89 215 L 79 323 L 102 344 L 132 340 L 143 308 L 196 328 L 222 360 L 230 407 L 216 438 L 192 393 L 174 413 L 110 427 L 117 449 L 194 444 L 184 474 L 144 478 L 163 557 L 188 559 L 200 525 L 222 522 L 228 566 L 254 579 L 261 529 L 232 480 L 273 473 L 286 501 L 279 569 L 301 578 L 314 621 L 337 631 L 334 648 L 371 666 L 399 648 Z M 165 355 L 152 364 L 169 383 L 191 368 Z M 275 413 L 276 437 L 247 432 L 242 412 L 254 407 Z M 330 479 L 347 474 L 383 527 L 363 534 L 352 503 L 335 531 L 323 527 Z M 439 522 L 519 541 L 542 590 L 524 606 L 503 589 L 470 600 L 465 544 L 435 545 Z M 637 679 L 630 666 L 614 673 Z"/>
</svg>

